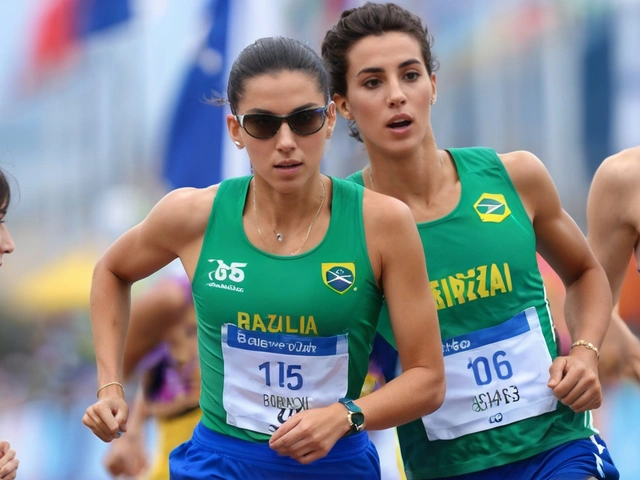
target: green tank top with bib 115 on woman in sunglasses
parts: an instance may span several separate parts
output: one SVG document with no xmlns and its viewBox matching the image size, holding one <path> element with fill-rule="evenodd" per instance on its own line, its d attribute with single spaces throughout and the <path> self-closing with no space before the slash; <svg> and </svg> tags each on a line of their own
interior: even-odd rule
<svg viewBox="0 0 640 480">
<path fill-rule="evenodd" d="M 221 183 L 192 290 L 202 422 L 266 441 L 296 411 L 358 398 L 382 295 L 365 243 L 362 187 L 332 178 L 324 239 L 308 252 L 280 256 L 245 235 L 251 178 Z"/>
</svg>

